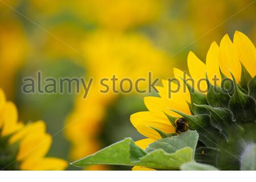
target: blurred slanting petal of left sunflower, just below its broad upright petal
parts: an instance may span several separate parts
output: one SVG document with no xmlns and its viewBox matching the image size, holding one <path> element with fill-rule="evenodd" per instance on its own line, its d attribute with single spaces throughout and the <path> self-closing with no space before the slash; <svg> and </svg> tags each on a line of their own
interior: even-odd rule
<svg viewBox="0 0 256 182">
<path fill-rule="evenodd" d="M 37 121 L 33 123 L 28 123 L 23 129 L 19 130 L 9 139 L 10 143 L 14 143 L 19 139 L 22 139 L 28 134 L 36 133 L 36 134 L 43 134 L 46 132 L 46 124 L 43 121 Z"/>
</svg>

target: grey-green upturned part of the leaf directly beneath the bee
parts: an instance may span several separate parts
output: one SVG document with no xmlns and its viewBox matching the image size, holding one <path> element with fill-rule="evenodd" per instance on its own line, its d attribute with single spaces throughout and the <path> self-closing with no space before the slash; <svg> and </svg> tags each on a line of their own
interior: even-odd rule
<svg viewBox="0 0 256 182">
<path fill-rule="evenodd" d="M 154 150 L 162 149 L 165 152 L 171 154 L 181 148 L 190 147 L 193 150 L 194 156 L 198 138 L 199 135 L 196 131 L 188 130 L 175 137 L 163 138 L 157 140 L 154 143 L 151 143 L 148 148 L 146 148 L 146 152 L 152 152 Z"/>
</svg>

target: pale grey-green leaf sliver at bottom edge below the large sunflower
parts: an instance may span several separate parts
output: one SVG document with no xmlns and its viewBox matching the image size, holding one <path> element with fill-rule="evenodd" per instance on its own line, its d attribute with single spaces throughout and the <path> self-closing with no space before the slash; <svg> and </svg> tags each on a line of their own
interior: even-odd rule
<svg viewBox="0 0 256 182">
<path fill-rule="evenodd" d="M 180 169 L 183 171 L 218 171 L 218 169 L 214 166 L 196 162 L 185 163 L 180 167 Z"/>
</svg>

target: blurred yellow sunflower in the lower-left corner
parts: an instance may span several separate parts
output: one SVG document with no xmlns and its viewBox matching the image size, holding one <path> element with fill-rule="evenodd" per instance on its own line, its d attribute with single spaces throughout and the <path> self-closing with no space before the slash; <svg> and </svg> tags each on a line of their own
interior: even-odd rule
<svg viewBox="0 0 256 182">
<path fill-rule="evenodd" d="M 64 170 L 63 159 L 46 157 L 51 135 L 43 121 L 24 124 L 18 122 L 13 102 L 6 101 L 0 89 L 0 168 L 7 170 Z"/>
</svg>

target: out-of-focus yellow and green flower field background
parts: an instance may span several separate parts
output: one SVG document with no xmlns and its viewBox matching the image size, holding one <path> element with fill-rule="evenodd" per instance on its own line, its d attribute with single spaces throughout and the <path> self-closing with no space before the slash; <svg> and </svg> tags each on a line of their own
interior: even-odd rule
<svg viewBox="0 0 256 182">
<path fill-rule="evenodd" d="M 47 123 L 49 156 L 80 159 L 125 137 L 142 139 L 129 117 L 145 109 L 146 94 L 101 94 L 93 84 L 86 99 L 26 95 L 24 77 L 171 77 L 174 67 L 187 70 L 189 50 L 205 60 L 226 33 L 255 42 L 255 12 L 251 0 L 0 0 L 0 87 L 20 120 Z"/>
</svg>

